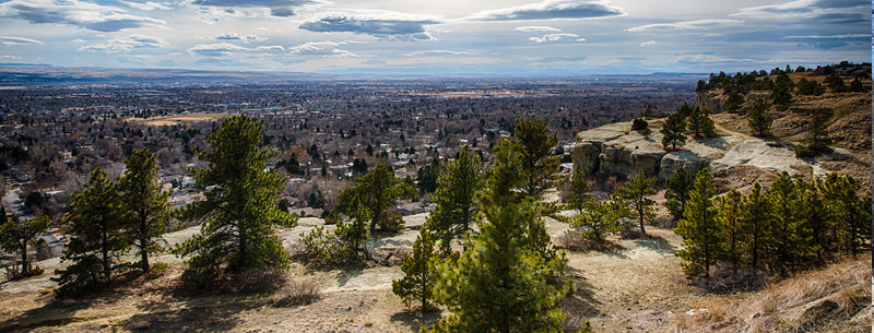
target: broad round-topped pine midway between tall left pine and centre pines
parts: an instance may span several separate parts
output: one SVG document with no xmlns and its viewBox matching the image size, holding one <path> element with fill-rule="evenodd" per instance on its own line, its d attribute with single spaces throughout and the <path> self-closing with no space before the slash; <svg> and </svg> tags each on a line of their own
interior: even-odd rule
<svg viewBox="0 0 874 333">
<path fill-rule="evenodd" d="M 349 216 L 359 209 L 370 219 L 370 233 L 385 219 L 386 211 L 397 203 L 398 199 L 415 195 L 403 179 L 394 177 L 394 171 L 387 164 L 379 162 L 366 175 L 352 180 L 352 187 L 344 189 L 338 197 L 335 210 Z"/>
</svg>

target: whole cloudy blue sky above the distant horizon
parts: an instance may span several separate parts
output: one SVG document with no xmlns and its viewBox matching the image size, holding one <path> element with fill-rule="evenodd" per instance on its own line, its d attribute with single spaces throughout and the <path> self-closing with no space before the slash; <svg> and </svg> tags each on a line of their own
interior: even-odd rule
<svg viewBox="0 0 874 333">
<path fill-rule="evenodd" d="M 0 63 L 378 74 L 871 61 L 858 0 L 0 0 Z"/>
</svg>

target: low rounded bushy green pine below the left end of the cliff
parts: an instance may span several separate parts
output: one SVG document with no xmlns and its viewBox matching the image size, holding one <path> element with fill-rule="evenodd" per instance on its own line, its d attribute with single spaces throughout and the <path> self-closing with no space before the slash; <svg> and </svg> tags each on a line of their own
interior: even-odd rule
<svg viewBox="0 0 874 333">
<path fill-rule="evenodd" d="M 594 242 L 604 242 L 609 234 L 623 229 L 623 219 L 631 216 L 628 204 L 616 195 L 607 200 L 595 201 L 588 198 L 582 210 L 570 221 L 580 236 Z"/>
</svg>

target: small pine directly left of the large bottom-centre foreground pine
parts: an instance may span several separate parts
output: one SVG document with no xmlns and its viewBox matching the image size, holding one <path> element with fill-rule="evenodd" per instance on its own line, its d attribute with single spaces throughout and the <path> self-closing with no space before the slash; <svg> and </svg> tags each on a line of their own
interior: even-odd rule
<svg viewBox="0 0 874 333">
<path fill-rule="evenodd" d="M 436 308 L 429 302 L 434 297 L 434 273 L 430 261 L 435 257 L 430 233 L 427 228 L 423 228 L 413 243 L 413 254 L 403 255 L 401 271 L 406 275 L 391 282 L 391 292 L 401 297 L 408 307 L 413 300 L 422 302 L 422 313 Z"/>
</svg>

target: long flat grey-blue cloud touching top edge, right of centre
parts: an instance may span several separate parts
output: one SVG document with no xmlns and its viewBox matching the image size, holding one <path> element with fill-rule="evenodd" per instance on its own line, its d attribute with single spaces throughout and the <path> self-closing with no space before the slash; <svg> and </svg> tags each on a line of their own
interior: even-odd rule
<svg viewBox="0 0 874 333">
<path fill-rule="evenodd" d="M 518 7 L 482 11 L 469 20 L 480 21 L 531 21 L 531 20 L 584 20 L 626 15 L 625 10 L 607 1 L 546 0 Z"/>
</svg>

